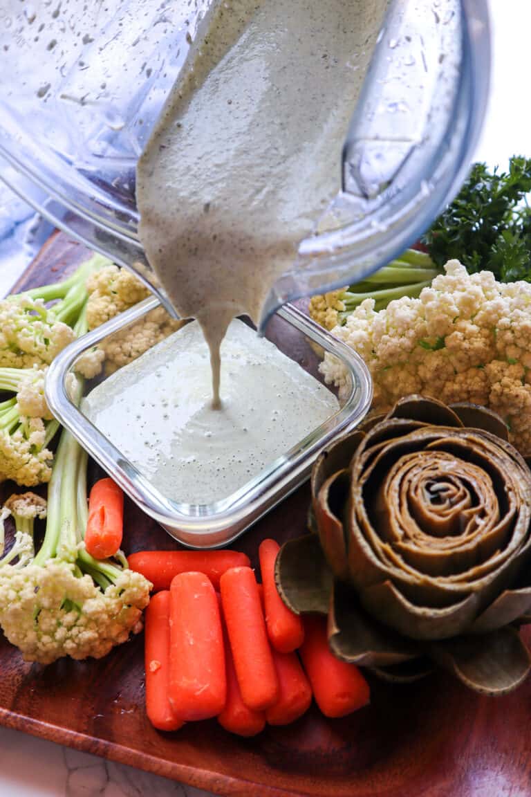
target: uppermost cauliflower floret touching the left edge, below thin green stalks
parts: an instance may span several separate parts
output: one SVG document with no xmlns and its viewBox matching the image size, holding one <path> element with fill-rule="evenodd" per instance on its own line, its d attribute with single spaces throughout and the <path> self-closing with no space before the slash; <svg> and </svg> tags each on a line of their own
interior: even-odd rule
<svg viewBox="0 0 531 797">
<path fill-rule="evenodd" d="M 0 300 L 0 367 L 49 365 L 74 332 L 41 299 L 22 294 Z"/>
</svg>

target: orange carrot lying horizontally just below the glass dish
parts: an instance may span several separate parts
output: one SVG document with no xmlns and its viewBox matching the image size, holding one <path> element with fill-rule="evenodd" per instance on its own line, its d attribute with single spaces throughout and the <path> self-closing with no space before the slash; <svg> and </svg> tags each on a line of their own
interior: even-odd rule
<svg viewBox="0 0 531 797">
<path fill-rule="evenodd" d="M 239 551 L 139 551 L 128 557 L 129 567 L 142 573 L 155 592 L 169 590 L 179 573 L 204 573 L 219 589 L 220 576 L 229 567 L 245 567 L 249 558 Z"/>
</svg>

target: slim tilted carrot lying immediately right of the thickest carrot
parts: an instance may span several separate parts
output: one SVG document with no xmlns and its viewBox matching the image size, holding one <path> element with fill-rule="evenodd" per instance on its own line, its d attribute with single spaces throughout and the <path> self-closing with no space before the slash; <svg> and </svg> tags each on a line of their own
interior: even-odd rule
<svg viewBox="0 0 531 797">
<path fill-rule="evenodd" d="M 255 574 L 250 567 L 232 567 L 220 587 L 241 697 L 249 709 L 264 711 L 278 700 L 279 681 Z"/>
</svg>

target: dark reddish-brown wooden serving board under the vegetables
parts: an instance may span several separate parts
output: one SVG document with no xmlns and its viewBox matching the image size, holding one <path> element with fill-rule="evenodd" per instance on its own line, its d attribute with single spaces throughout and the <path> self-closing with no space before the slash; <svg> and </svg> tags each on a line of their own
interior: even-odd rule
<svg viewBox="0 0 531 797">
<path fill-rule="evenodd" d="M 87 251 L 57 235 L 17 289 L 57 280 Z M 310 351 L 300 352 L 311 359 Z M 298 536 L 307 485 L 235 547 L 257 564 L 260 540 Z M 126 552 L 177 548 L 127 502 Z M 21 661 L 0 638 L 0 724 L 238 797 L 525 797 L 531 795 L 531 681 L 508 697 L 478 697 L 445 675 L 414 685 L 372 681 L 371 705 L 345 720 L 314 707 L 252 740 L 215 720 L 157 732 L 144 713 L 143 638 L 98 662 Z"/>
</svg>

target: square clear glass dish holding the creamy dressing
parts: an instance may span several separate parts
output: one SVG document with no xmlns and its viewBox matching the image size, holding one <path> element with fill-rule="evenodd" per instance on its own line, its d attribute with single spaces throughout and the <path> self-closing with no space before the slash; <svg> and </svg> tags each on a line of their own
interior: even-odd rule
<svg viewBox="0 0 531 797">
<path fill-rule="evenodd" d="M 225 545 L 302 484 L 318 453 L 334 438 L 361 422 L 372 398 L 369 371 L 356 352 L 346 344 L 319 327 L 295 306 L 284 305 L 267 325 L 265 336 L 283 354 L 317 377 L 316 357 L 311 344 L 341 359 L 346 366 L 347 381 L 339 409 L 291 449 L 279 453 L 275 461 L 232 494 L 212 504 L 180 503 L 164 495 L 68 395 L 68 375 L 76 370 L 80 356 L 108 336 L 135 324 L 157 306 L 156 298 L 146 299 L 65 348 L 49 367 L 46 398 L 63 426 L 125 493 L 166 528 L 175 540 L 189 548 Z"/>
</svg>

